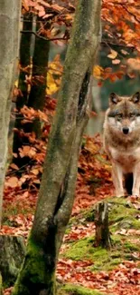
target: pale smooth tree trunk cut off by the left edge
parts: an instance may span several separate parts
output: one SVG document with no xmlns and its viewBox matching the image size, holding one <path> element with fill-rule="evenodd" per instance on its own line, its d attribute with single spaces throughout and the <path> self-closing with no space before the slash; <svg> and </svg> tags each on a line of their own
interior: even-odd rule
<svg viewBox="0 0 140 295">
<path fill-rule="evenodd" d="M 21 1 L 0 1 L 0 223 L 2 218 L 11 92 L 18 57 L 20 12 Z"/>
</svg>

